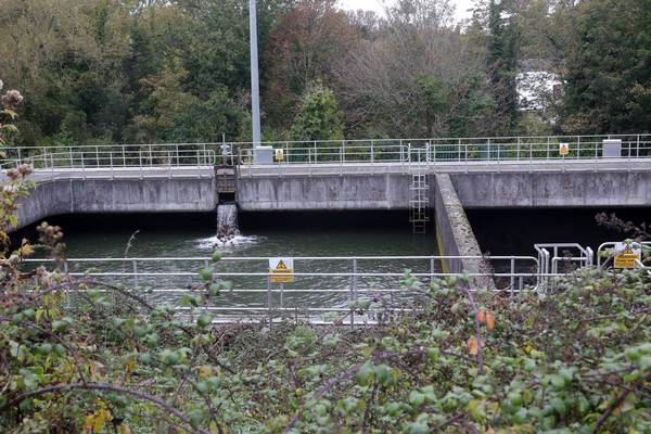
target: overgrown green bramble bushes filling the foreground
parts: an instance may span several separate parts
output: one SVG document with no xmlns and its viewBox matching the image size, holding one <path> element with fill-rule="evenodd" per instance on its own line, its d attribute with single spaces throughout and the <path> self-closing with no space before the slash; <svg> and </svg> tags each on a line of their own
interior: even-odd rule
<svg viewBox="0 0 651 434">
<path fill-rule="evenodd" d="M 56 248 L 59 228 L 40 233 Z M 546 297 L 406 276 L 423 310 L 352 331 L 213 326 L 202 306 L 230 284 L 209 270 L 182 319 L 16 267 L 2 263 L 1 432 L 651 432 L 641 271 L 579 270 Z"/>
</svg>

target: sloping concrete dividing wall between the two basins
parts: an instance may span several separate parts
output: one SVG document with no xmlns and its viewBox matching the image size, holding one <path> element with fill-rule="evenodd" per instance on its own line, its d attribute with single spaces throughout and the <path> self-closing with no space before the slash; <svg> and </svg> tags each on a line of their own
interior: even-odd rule
<svg viewBox="0 0 651 434">
<path fill-rule="evenodd" d="M 438 252 L 443 256 L 482 256 L 480 244 L 472 231 L 463 206 L 455 192 L 449 175 L 435 176 L 432 184 L 434 196 L 434 220 Z M 483 259 L 447 259 L 443 261 L 445 272 L 487 272 Z M 474 277 L 473 285 L 493 288 L 490 278 Z"/>
</svg>

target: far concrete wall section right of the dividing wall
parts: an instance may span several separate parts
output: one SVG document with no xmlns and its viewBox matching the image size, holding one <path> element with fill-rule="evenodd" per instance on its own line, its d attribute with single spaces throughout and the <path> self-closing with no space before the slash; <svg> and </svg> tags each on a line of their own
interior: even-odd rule
<svg viewBox="0 0 651 434">
<path fill-rule="evenodd" d="M 465 208 L 651 206 L 651 170 L 450 175 Z"/>
</svg>

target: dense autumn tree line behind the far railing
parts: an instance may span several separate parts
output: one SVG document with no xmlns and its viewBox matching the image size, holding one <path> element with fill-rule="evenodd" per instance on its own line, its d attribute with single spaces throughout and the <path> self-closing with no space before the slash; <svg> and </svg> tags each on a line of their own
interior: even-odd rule
<svg viewBox="0 0 651 434">
<path fill-rule="evenodd" d="M 0 1 L 20 144 L 251 140 L 246 0 Z M 265 139 L 648 131 L 649 0 L 258 0 Z M 614 13 L 617 11 L 617 13 Z M 519 110 L 537 64 L 563 84 Z"/>
</svg>

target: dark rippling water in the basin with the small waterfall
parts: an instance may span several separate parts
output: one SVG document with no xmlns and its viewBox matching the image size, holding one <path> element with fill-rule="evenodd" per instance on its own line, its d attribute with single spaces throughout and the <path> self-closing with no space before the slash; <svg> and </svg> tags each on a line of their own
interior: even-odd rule
<svg viewBox="0 0 651 434">
<path fill-rule="evenodd" d="M 209 257 L 215 250 L 226 257 L 269 256 L 431 256 L 436 255 L 434 233 L 413 235 L 405 213 L 261 213 L 242 214 L 240 231 L 229 233 L 226 228 L 237 221 L 234 205 L 219 207 L 217 217 L 207 215 L 140 215 L 140 216 L 64 216 L 50 218 L 63 227 L 68 258 L 133 258 L 133 257 Z M 217 221 L 216 221 L 217 220 Z M 217 232 L 219 227 L 219 233 Z M 22 235 L 34 237 L 34 229 Z M 129 244 L 129 239 L 132 241 Z M 97 270 L 131 272 L 130 261 L 90 264 Z M 435 271 L 439 270 L 434 264 Z M 72 271 L 85 271 L 89 264 L 71 265 Z M 181 292 L 197 282 L 196 272 L 205 267 L 203 260 L 143 261 L 139 272 L 191 272 L 191 276 L 141 277 L 122 281 L 129 286 L 154 291 L 148 297 L 178 303 Z M 430 260 L 360 260 L 358 272 L 403 273 L 406 268 L 429 273 Z M 264 259 L 222 261 L 221 272 L 267 272 Z M 352 260 L 296 260 L 296 272 L 353 272 Z M 114 281 L 119 278 L 111 278 Z M 266 307 L 265 277 L 229 278 L 234 289 L 243 293 L 220 296 L 221 308 Z M 375 290 L 399 289 L 400 278 L 359 278 L 356 286 L 359 297 L 375 297 Z M 349 277 L 297 277 L 295 283 L 284 285 L 283 307 L 298 306 L 345 308 L 349 299 Z M 278 289 L 276 284 L 273 286 Z M 306 290 L 308 292 L 293 292 Z M 365 290 L 370 291 L 363 293 Z M 174 291 L 174 292 L 171 292 Z M 394 298 L 394 301 L 399 297 Z M 280 306 L 276 294 L 272 305 Z"/>
</svg>

